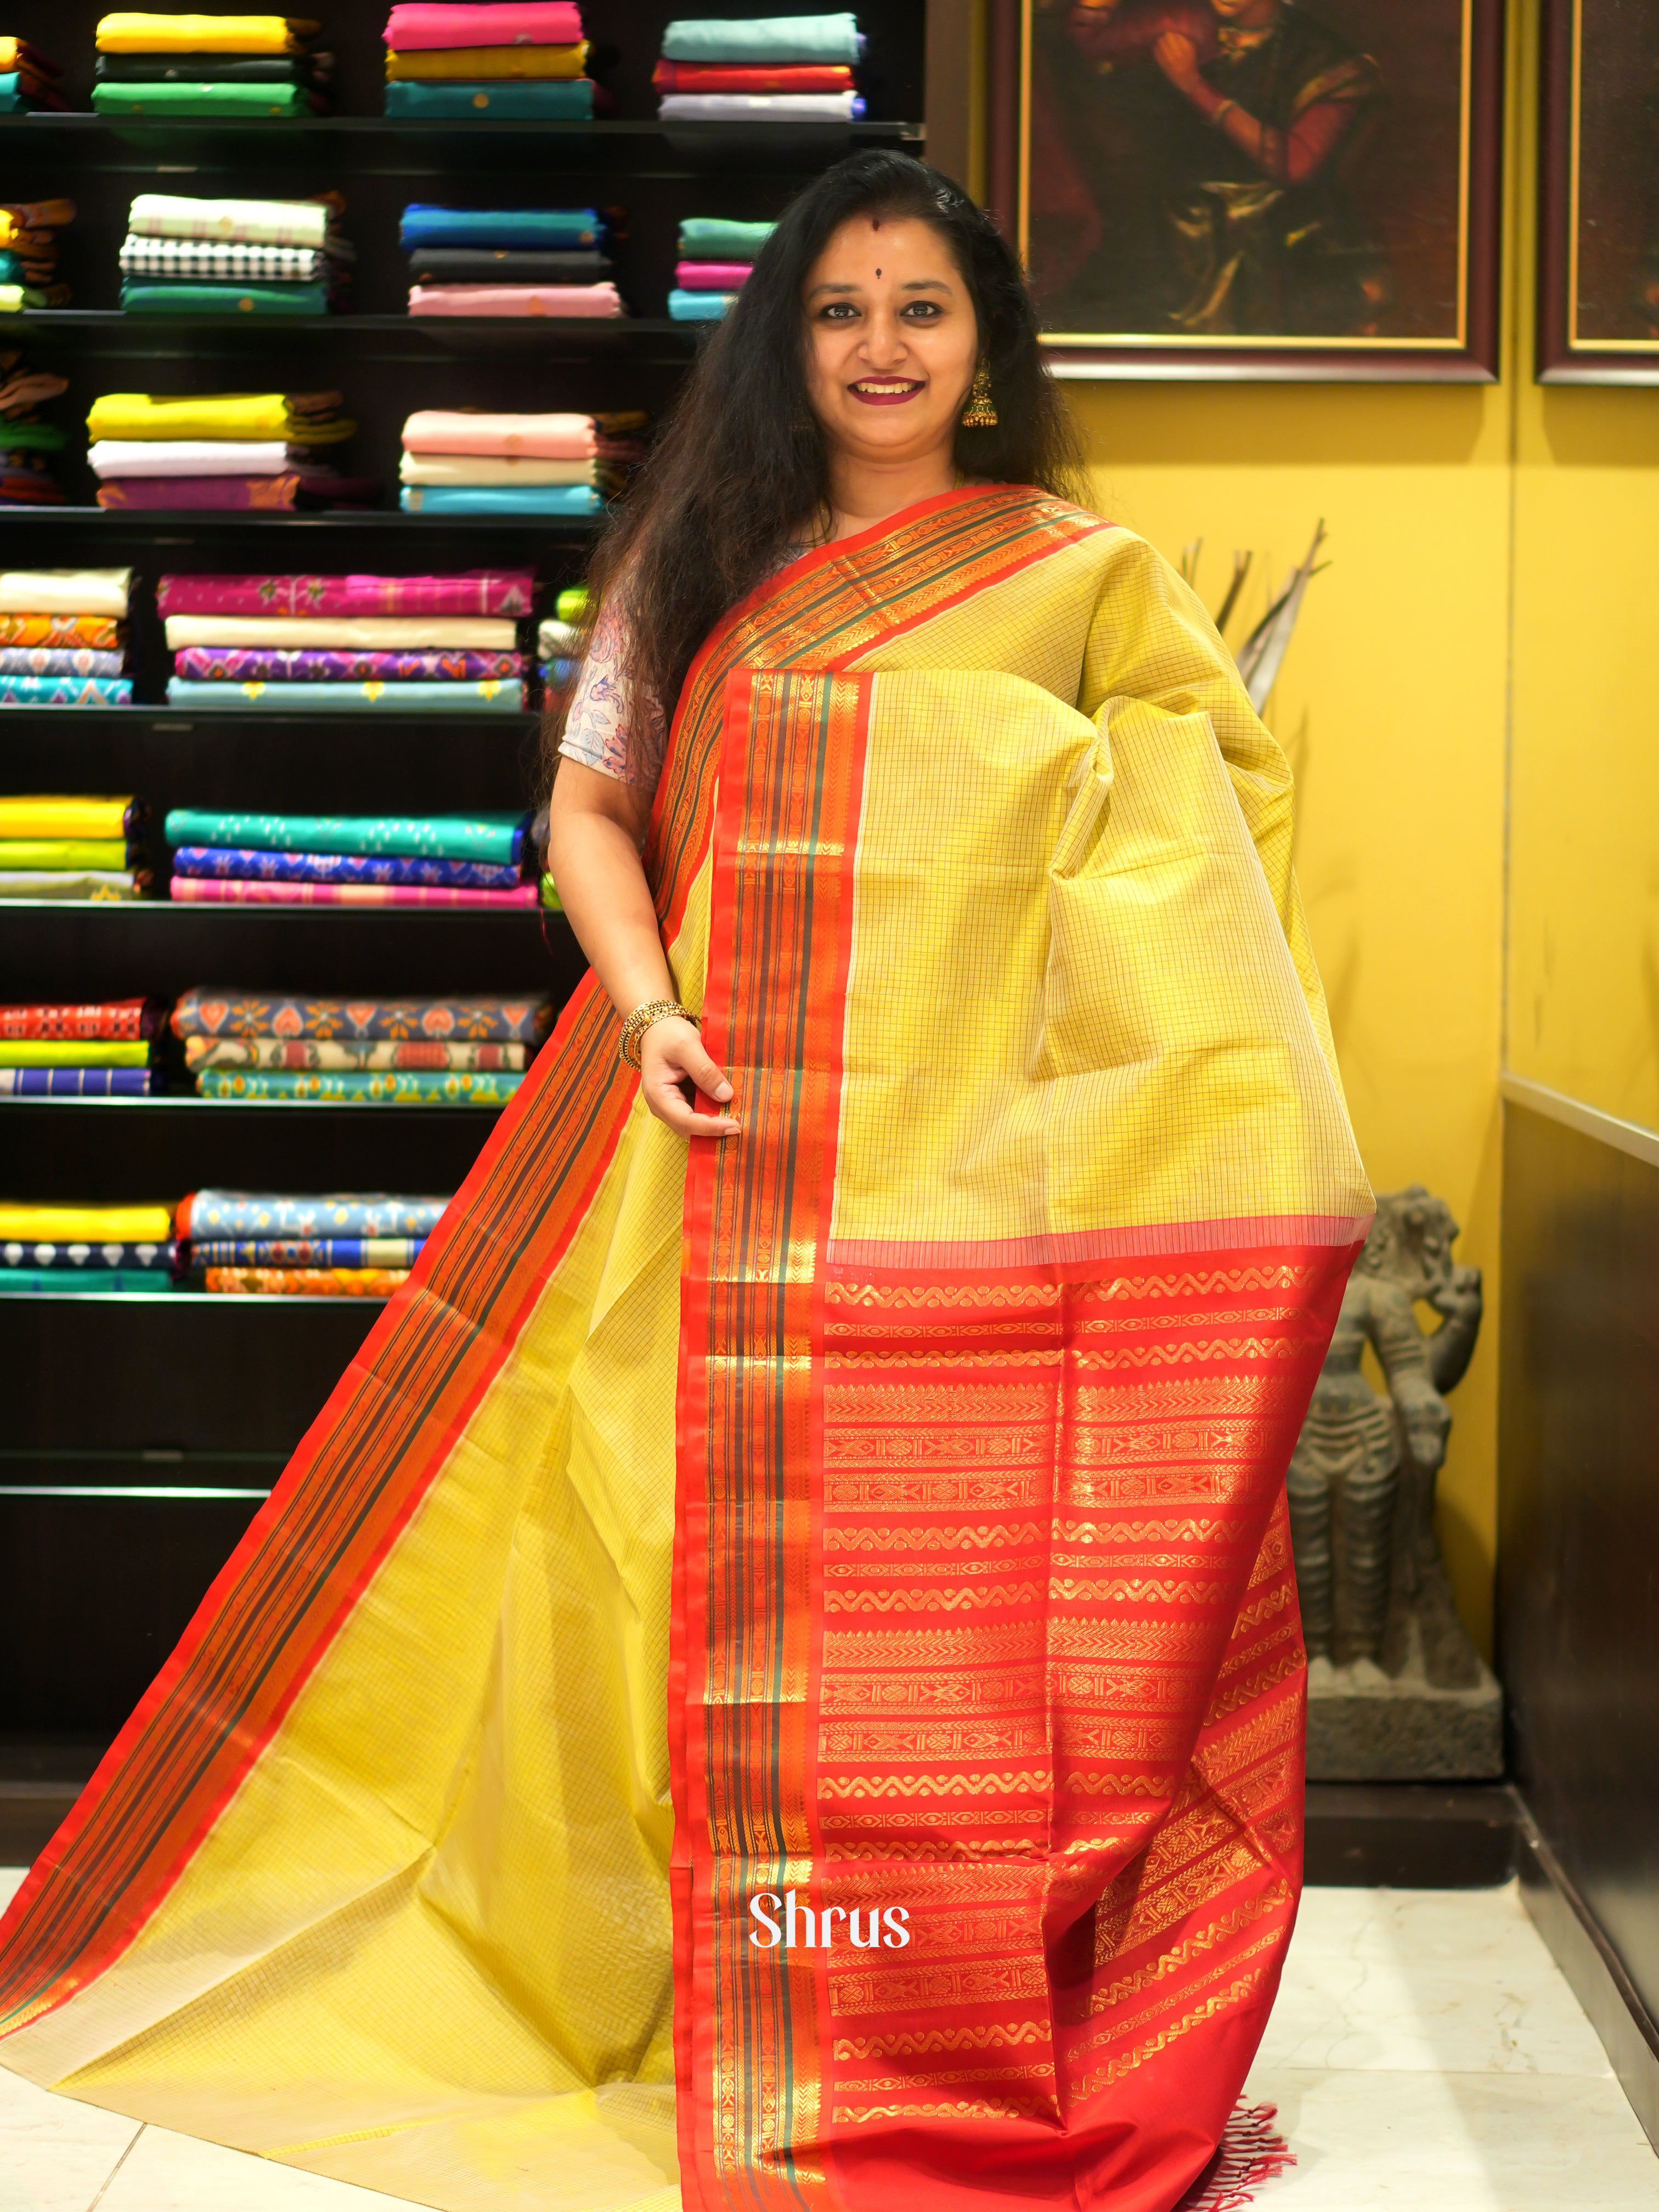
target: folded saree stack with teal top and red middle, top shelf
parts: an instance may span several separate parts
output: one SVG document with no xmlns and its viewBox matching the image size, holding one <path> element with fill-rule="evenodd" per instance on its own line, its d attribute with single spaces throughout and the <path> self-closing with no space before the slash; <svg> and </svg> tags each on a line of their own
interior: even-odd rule
<svg viewBox="0 0 1659 2212">
<path fill-rule="evenodd" d="M 863 58 L 854 15 L 670 22 L 653 84 L 664 122 L 854 122 Z"/>
</svg>

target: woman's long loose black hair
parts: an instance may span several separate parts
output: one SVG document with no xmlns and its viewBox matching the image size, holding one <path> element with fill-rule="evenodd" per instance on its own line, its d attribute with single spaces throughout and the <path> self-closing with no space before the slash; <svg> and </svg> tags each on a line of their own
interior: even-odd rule
<svg viewBox="0 0 1659 2212">
<path fill-rule="evenodd" d="M 772 573 L 790 533 L 827 500 L 801 296 L 834 232 L 860 215 L 931 223 L 967 281 L 998 425 L 958 427 L 958 469 L 982 482 L 1077 495 L 1075 434 L 1002 232 L 960 186 L 909 155 L 869 150 L 836 161 L 783 210 L 588 571 L 591 611 L 626 573 L 628 679 L 635 699 L 655 699 L 666 719 L 719 617 Z"/>
</svg>

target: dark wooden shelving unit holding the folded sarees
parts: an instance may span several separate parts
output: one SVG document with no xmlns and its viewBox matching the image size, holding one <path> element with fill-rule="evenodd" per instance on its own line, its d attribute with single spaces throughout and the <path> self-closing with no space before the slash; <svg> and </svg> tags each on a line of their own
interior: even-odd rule
<svg viewBox="0 0 1659 2212">
<path fill-rule="evenodd" d="M 938 7 L 940 0 L 933 0 Z M 681 9 L 684 11 L 684 9 Z M 4 22 L 66 69 L 86 104 L 97 0 L 22 0 Z M 338 389 L 354 476 L 385 509 L 327 515 L 104 513 L 77 458 L 73 507 L 0 515 L 7 566 L 135 568 L 131 710 L 0 712 L 0 790 L 137 792 L 150 860 L 170 805 L 374 812 L 533 801 L 535 714 L 263 714 L 164 706 L 155 577 L 166 568 L 380 571 L 533 566 L 544 599 L 582 573 L 593 522 L 396 511 L 398 431 L 416 407 L 626 409 L 659 416 L 701 330 L 664 319 L 681 215 L 768 217 L 858 144 L 920 150 L 925 0 L 860 7 L 874 119 L 854 126 L 655 119 L 666 0 L 584 0 L 615 117 L 425 124 L 378 113 L 385 7 L 323 7 L 330 117 L 133 122 L 0 117 L 0 199 L 77 201 L 60 274 L 73 305 L 0 321 L 0 345 L 69 380 L 73 431 L 102 392 Z M 117 254 L 142 190 L 345 195 L 347 312 L 303 319 L 126 316 Z M 411 199 L 602 206 L 626 321 L 436 321 L 405 312 L 396 243 Z M 190 984 L 310 991 L 529 991 L 562 1002 L 582 958 L 562 916 L 327 907 L 0 902 L 0 1000 L 177 995 Z M 0 1099 L 0 1190 L 53 1201 L 179 1199 L 243 1188 L 453 1190 L 493 1117 L 469 1108 Z M 150 1679 L 283 1460 L 372 1327 L 354 1298 L 9 1296 L 0 1307 L 0 1778 L 88 1767 Z M 44 1750 L 42 1750 L 44 1745 Z M 42 1765 L 44 1761 L 44 1765 Z"/>
</svg>

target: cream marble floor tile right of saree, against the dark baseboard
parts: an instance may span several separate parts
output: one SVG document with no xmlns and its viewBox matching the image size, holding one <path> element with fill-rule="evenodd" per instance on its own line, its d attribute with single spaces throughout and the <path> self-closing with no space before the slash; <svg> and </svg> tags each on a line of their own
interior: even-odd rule
<svg viewBox="0 0 1659 2212">
<path fill-rule="evenodd" d="M 1310 1889 L 1259 2064 L 1610 2077 L 1506 1889 Z"/>
</svg>

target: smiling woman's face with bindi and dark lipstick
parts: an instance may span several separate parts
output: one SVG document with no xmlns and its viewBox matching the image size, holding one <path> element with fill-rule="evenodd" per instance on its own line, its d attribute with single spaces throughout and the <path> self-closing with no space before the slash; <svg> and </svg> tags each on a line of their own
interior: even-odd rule
<svg viewBox="0 0 1659 2212">
<path fill-rule="evenodd" d="M 807 272 L 807 396 L 849 458 L 920 460 L 949 445 L 980 332 L 931 223 L 858 215 Z"/>
</svg>

